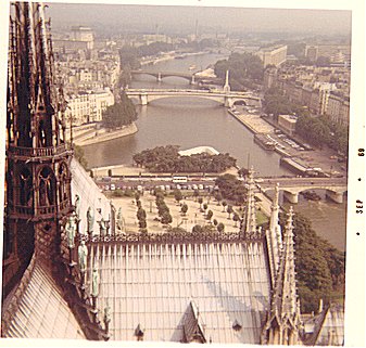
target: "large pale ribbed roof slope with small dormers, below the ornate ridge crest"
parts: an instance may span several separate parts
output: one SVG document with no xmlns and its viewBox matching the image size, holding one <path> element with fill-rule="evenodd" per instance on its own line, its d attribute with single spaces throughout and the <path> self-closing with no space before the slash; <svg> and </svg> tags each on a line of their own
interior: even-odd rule
<svg viewBox="0 0 366 348">
<path fill-rule="evenodd" d="M 260 344 L 269 301 L 264 243 L 91 244 L 111 339 Z M 237 323 L 240 323 L 238 325 Z"/>
</svg>

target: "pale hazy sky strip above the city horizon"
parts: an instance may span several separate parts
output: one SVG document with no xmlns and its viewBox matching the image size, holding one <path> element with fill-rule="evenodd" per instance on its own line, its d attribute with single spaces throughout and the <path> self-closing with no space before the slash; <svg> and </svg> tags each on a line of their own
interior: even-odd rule
<svg viewBox="0 0 366 348">
<path fill-rule="evenodd" d="M 51 3 L 48 10 L 53 27 L 68 23 L 121 26 L 154 30 L 200 27 L 223 28 L 223 31 L 308 31 L 350 33 L 351 11 L 340 10 L 285 10 L 206 7 L 116 5 Z"/>
</svg>

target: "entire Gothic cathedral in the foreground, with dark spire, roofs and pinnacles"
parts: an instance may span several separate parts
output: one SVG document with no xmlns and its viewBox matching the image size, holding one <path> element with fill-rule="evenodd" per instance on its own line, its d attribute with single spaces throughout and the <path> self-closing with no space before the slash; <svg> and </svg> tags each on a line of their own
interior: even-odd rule
<svg viewBox="0 0 366 348">
<path fill-rule="evenodd" d="M 269 225 L 257 225 L 253 168 L 238 229 L 118 229 L 123 211 L 116 214 L 66 141 L 63 89 L 55 81 L 48 30 L 39 25 L 43 5 L 15 7 L 2 337 L 342 345 L 342 315 L 337 325 L 332 319 L 341 312 L 337 308 L 319 311 L 304 332 L 293 211 L 281 229 L 276 185 Z M 29 30 L 29 23 L 39 30 Z M 45 83 L 31 93 L 35 80 Z"/>
</svg>

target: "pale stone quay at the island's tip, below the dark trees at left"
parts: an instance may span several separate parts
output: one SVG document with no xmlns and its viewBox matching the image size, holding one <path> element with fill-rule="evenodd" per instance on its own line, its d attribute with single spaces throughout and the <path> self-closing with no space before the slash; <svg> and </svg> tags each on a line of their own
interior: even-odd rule
<svg viewBox="0 0 366 348">
<path fill-rule="evenodd" d="M 87 129 L 84 133 L 79 133 L 74 138 L 74 144 L 78 146 L 87 146 L 91 144 L 98 144 L 114 140 L 117 138 L 123 138 L 127 136 L 135 134 L 138 131 L 138 128 L 135 123 L 124 126 L 116 130 L 108 130 L 105 128 L 97 129 L 97 125 L 93 128 Z M 76 130 L 77 132 L 77 130 Z"/>
</svg>

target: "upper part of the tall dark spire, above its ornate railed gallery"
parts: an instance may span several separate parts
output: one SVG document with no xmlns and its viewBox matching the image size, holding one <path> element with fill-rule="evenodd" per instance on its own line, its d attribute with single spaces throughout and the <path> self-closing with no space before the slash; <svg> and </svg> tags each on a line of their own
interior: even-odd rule
<svg viewBox="0 0 366 348">
<path fill-rule="evenodd" d="M 11 20 L 9 142 L 22 147 L 60 144 L 53 53 L 45 5 L 15 2 Z"/>
</svg>

